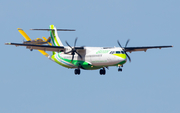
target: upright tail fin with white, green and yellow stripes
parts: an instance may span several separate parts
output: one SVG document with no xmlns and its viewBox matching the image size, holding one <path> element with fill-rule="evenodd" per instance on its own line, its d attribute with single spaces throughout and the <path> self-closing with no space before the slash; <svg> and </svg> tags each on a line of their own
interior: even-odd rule
<svg viewBox="0 0 180 113">
<path fill-rule="evenodd" d="M 63 46 L 61 40 L 58 37 L 57 29 L 54 25 L 50 25 L 50 37 L 54 46 Z"/>
</svg>

